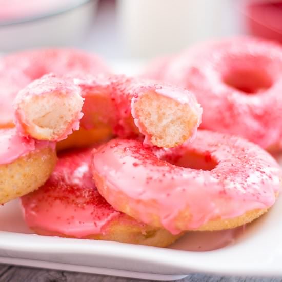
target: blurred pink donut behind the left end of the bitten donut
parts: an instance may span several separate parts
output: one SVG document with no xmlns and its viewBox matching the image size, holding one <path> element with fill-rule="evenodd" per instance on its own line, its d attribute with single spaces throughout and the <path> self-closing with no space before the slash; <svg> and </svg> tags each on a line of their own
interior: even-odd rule
<svg viewBox="0 0 282 282">
<path fill-rule="evenodd" d="M 110 73 L 100 58 L 74 49 L 22 51 L 0 59 L 0 128 L 13 127 L 13 100 L 19 90 L 44 74 Z"/>
</svg>

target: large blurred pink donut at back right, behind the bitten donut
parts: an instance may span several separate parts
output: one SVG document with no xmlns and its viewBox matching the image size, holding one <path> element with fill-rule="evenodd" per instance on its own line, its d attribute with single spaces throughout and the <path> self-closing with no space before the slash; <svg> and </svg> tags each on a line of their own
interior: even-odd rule
<svg viewBox="0 0 282 282">
<path fill-rule="evenodd" d="M 204 110 L 200 128 L 281 147 L 280 45 L 252 37 L 201 44 L 174 56 L 155 78 L 194 92 Z"/>
</svg>

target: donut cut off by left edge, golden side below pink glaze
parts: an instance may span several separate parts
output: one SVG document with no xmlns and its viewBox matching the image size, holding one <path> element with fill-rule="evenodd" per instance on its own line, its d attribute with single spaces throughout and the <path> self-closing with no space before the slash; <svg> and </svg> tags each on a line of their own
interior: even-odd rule
<svg viewBox="0 0 282 282">
<path fill-rule="evenodd" d="M 43 185 L 55 163 L 54 143 L 27 139 L 15 128 L 0 129 L 0 204 Z"/>
</svg>

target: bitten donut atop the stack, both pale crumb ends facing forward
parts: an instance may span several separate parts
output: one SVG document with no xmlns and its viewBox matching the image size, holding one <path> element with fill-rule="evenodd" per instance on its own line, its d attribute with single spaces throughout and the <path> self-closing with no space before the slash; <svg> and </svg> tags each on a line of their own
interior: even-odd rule
<svg viewBox="0 0 282 282">
<path fill-rule="evenodd" d="M 49 80 L 43 77 L 19 92 L 15 111 L 17 125 L 24 125 L 19 127 L 21 132 L 25 127 L 27 136 L 55 140 L 46 136 L 43 138 L 34 133 L 41 131 L 40 134 L 44 134 L 47 131 L 46 128 L 48 128 L 47 133 L 49 129 L 52 129 L 51 132 L 66 132 L 63 125 L 66 124 L 67 117 L 64 117 L 64 114 L 68 111 L 69 115 L 73 116 L 72 112 L 75 110 L 77 113 L 75 116 L 77 116 L 78 107 L 72 109 L 75 104 L 72 102 L 66 105 L 65 100 L 68 100 L 69 94 L 65 99 L 62 99 L 62 94 L 58 95 L 65 91 L 66 85 L 70 87 L 67 82 L 63 86 L 62 83 L 59 86 L 57 83 L 51 84 L 50 91 L 50 87 L 45 86 L 46 83 L 50 83 L 50 76 L 47 78 Z M 54 79 L 53 76 L 51 78 Z M 194 95 L 187 90 L 119 75 L 72 79 L 73 83 L 80 87 L 84 99 L 83 117 L 80 121 L 82 132 L 66 140 L 60 149 L 91 145 L 96 137 L 98 142 L 106 137 L 110 138 L 112 134 L 120 137 L 144 136 L 146 144 L 174 147 L 191 139 L 199 126 L 202 108 Z M 72 92 L 75 92 L 74 89 L 71 89 Z M 44 94 L 47 94 L 46 99 L 51 97 L 52 102 L 46 103 L 44 99 L 42 100 L 40 97 Z M 64 110 L 64 108 L 67 109 Z M 34 118 L 33 109 L 37 109 L 36 118 Z M 81 116 L 78 115 L 78 117 Z M 39 122 L 35 123 L 35 119 Z M 76 118 L 75 124 L 78 122 Z M 41 130 L 42 124 L 44 124 L 44 133 Z M 61 125 L 61 130 L 56 129 L 58 125 Z M 55 135 L 56 140 L 58 140 L 57 135 Z M 63 137 L 66 137 L 65 133 Z"/>
</svg>

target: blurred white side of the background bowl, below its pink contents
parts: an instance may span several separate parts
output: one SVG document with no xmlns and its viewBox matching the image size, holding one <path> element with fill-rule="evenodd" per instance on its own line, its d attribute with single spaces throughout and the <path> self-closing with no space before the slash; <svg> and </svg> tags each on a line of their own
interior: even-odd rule
<svg viewBox="0 0 282 282">
<path fill-rule="evenodd" d="M 89 30 L 97 0 L 73 1 L 48 14 L 0 22 L 0 51 L 75 43 Z"/>
</svg>

